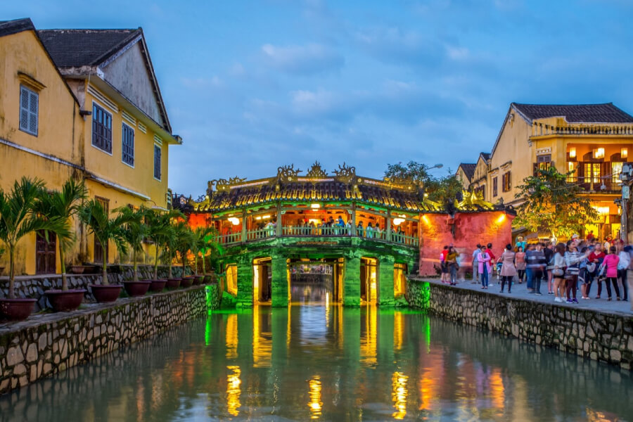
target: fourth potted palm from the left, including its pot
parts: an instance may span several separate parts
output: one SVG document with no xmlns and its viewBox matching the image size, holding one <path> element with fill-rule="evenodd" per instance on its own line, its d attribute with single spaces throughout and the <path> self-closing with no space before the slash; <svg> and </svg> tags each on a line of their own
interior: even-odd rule
<svg viewBox="0 0 633 422">
<path fill-rule="evenodd" d="M 139 254 L 143 253 L 143 240 L 146 237 L 148 227 L 145 224 L 146 207 L 132 209 L 131 207 L 119 207 L 115 211 L 125 220 L 122 226 L 122 236 L 132 250 L 132 280 L 123 281 L 123 286 L 128 295 L 143 296 L 147 293 L 151 281 L 139 280 Z"/>
</svg>

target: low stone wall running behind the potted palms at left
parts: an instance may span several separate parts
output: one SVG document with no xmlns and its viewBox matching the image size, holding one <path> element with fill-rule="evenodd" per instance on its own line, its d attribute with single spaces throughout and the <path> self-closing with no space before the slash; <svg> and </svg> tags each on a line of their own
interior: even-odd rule
<svg viewBox="0 0 633 422">
<path fill-rule="evenodd" d="M 191 270 L 187 268 L 187 274 Z M 158 278 L 165 279 L 169 275 L 169 268 L 158 267 Z M 182 267 L 172 267 L 172 276 L 179 277 L 182 275 Z M 68 288 L 83 288 L 87 290 L 84 299 L 94 302 L 94 296 L 90 293 L 88 286 L 90 284 L 101 284 L 101 272 L 98 274 L 68 274 Z M 108 266 L 108 283 L 121 284 L 124 280 L 132 280 L 134 278 L 133 268 L 131 265 L 112 265 Z M 139 279 L 153 279 L 154 267 L 139 265 Z M 8 297 L 8 277 L 0 277 L 0 298 Z M 42 309 L 50 309 L 51 304 L 44 295 L 46 290 L 55 290 L 61 288 L 60 274 L 44 274 L 41 276 L 20 276 L 15 279 L 15 297 L 16 298 L 33 298 L 37 299 L 34 312 Z"/>
</svg>

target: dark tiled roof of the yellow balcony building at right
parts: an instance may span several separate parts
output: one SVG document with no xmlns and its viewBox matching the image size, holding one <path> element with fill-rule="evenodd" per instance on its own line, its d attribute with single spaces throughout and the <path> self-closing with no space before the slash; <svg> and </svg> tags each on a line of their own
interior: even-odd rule
<svg viewBox="0 0 633 422">
<path fill-rule="evenodd" d="M 570 123 L 633 123 L 633 116 L 613 106 L 613 103 L 568 105 L 512 103 L 512 106 L 530 120 L 565 117 L 565 120 Z"/>
</svg>

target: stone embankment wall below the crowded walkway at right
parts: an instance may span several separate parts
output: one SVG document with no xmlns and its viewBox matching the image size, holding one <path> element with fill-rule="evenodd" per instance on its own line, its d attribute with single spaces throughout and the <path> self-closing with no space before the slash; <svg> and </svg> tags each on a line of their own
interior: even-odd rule
<svg viewBox="0 0 633 422">
<path fill-rule="evenodd" d="M 462 324 L 486 328 L 530 343 L 633 366 L 633 318 L 630 314 L 574 309 L 506 298 L 415 279 L 407 283 L 412 307 Z"/>
</svg>

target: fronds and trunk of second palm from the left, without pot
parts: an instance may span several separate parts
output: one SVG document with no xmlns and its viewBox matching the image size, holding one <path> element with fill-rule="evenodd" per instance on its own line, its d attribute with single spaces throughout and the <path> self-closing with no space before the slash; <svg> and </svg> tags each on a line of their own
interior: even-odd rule
<svg viewBox="0 0 633 422">
<path fill-rule="evenodd" d="M 61 191 L 41 193 L 40 200 L 36 203 L 36 211 L 46 220 L 58 219 L 63 224 L 60 230 L 51 230 L 57 236 L 59 243 L 59 262 L 62 272 L 62 290 L 68 290 L 68 280 L 66 279 L 65 255 L 68 249 L 75 243 L 75 231 L 72 230 L 72 217 L 77 215 L 81 208 L 82 201 L 87 196 L 87 190 L 83 181 L 77 182 L 75 179 L 68 179 L 62 186 Z"/>
</svg>

